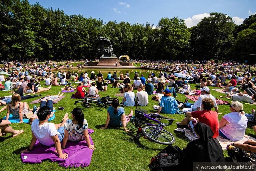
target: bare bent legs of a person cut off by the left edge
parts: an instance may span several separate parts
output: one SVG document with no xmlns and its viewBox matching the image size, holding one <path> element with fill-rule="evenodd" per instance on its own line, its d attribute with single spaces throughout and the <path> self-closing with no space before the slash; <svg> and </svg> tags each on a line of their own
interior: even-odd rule
<svg viewBox="0 0 256 171">
<path fill-rule="evenodd" d="M 0 119 L 0 137 L 5 136 L 7 133 L 11 133 L 12 137 L 16 137 L 17 135 L 24 132 L 23 130 L 14 130 L 9 125 L 11 125 L 11 122 L 9 120 Z"/>
</svg>

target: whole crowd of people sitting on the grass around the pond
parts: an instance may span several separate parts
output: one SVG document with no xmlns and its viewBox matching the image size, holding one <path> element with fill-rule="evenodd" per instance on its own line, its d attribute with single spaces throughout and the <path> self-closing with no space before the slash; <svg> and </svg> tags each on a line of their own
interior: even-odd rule
<svg viewBox="0 0 256 171">
<path fill-rule="evenodd" d="M 143 64 L 143 61 L 139 61 L 139 63 Z M 74 98 L 84 98 L 86 93 L 89 97 L 98 97 L 101 91 L 108 91 L 108 87 L 111 86 L 118 88 L 116 92 L 123 93 L 123 99 L 122 101 L 117 98 L 113 99 L 112 106 L 107 109 L 105 126 L 101 129 L 112 126 L 123 127 L 125 131 L 129 131 L 126 128 L 124 108 L 119 107 L 119 104 L 147 106 L 150 104 L 148 96 L 155 94 L 152 99 L 158 101 L 159 104 L 155 114 L 184 112 L 186 117 L 176 123 L 177 127 L 190 129 L 198 138 L 190 142 L 184 149 L 185 158 L 191 160 L 191 157 L 198 152 L 198 157 L 193 159 L 194 162 L 223 162 L 224 156 L 219 142 L 216 140 L 217 136 L 233 142 L 241 140 L 245 135 L 248 121 L 256 121 L 256 112 L 253 110 L 252 114 L 245 114 L 241 103 L 256 104 L 254 74 L 251 71 L 244 71 L 243 74 L 237 73 L 238 70 L 235 69 L 237 64 L 215 65 L 210 62 L 209 65 L 205 65 L 204 63 L 207 61 L 195 61 L 194 65 L 180 64 L 179 62 L 166 65 L 166 61 L 156 63 L 148 61 L 147 63 L 149 65 L 143 64 L 141 66 L 161 68 L 159 75 L 151 72 L 146 78 L 143 74 L 139 75 L 135 71 L 134 78 L 131 79 L 128 71 L 124 74 L 116 72 L 112 74 L 109 71 L 104 77 L 101 71 L 98 73 L 85 72 L 78 75 L 68 70 L 64 70 L 64 72 L 59 70 L 55 75 L 51 72 L 49 64 L 23 66 L 19 63 L 20 65 L 15 66 L 15 69 L 13 68 L 14 70 L 9 73 L 6 68 L 1 69 L 10 76 L 0 75 L 0 88 L 14 91 L 14 94 L 11 97 L 0 97 L 0 105 L 7 105 L 1 110 L 7 109 L 7 113 L 6 120 L 0 120 L 0 136 L 11 133 L 15 137 L 24 132 L 24 130 L 12 129 L 11 123 L 8 121 L 9 115 L 12 114 L 14 119 L 20 120 L 20 123 L 23 122 L 24 118 L 30 119 L 32 140 L 28 148 L 22 152 L 33 150 L 36 140 L 46 146 L 55 145 L 56 151 L 62 159 L 68 157 L 68 154 L 62 153 L 68 140 L 85 140 L 90 149 L 95 149 L 94 145 L 90 144 L 88 123 L 81 108 L 73 109 L 71 112 L 72 119 L 69 119 L 66 114 L 62 123 L 53 124 L 48 120 L 53 116 L 53 101 L 60 94 L 44 98 L 41 100 L 40 107 L 34 109 L 30 109 L 27 102 L 22 100 L 41 96 L 38 93 L 49 91 L 51 86 L 62 86 L 66 91 L 75 91 Z M 177 73 L 178 76 L 176 76 Z M 45 80 L 45 85 L 49 87 L 41 86 L 43 80 Z M 72 86 L 71 82 L 77 81 L 79 82 L 78 85 Z M 197 85 L 192 88 L 190 84 Z M 233 100 L 229 105 L 230 113 L 225 114 L 220 121 L 218 120 L 220 113 L 216 98 L 211 94 L 210 86 L 225 86 L 223 91 L 226 92 L 226 98 Z M 23 93 L 33 93 L 33 95 L 24 96 Z M 188 99 L 182 103 L 177 100 L 179 93 L 194 94 L 198 96 L 198 99 L 194 103 L 190 103 Z M 133 114 L 133 110 L 130 111 L 130 114 Z M 256 130 L 256 126 L 254 130 Z M 60 142 L 62 141 L 61 145 Z M 255 142 L 245 142 L 244 144 L 232 143 L 227 148 L 231 152 L 236 148 L 256 152 L 255 146 Z"/>
</svg>

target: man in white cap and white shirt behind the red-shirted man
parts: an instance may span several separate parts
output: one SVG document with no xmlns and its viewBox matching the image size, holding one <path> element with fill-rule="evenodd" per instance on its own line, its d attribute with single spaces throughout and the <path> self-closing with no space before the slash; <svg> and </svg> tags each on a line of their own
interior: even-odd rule
<svg viewBox="0 0 256 171">
<path fill-rule="evenodd" d="M 218 113 L 219 109 L 218 109 L 218 106 L 216 104 L 215 97 L 210 94 L 210 89 L 208 87 L 206 87 L 206 86 L 202 88 L 201 95 L 199 96 L 197 101 L 195 101 L 194 104 L 190 104 L 188 102 L 184 103 L 184 106 L 189 106 L 190 105 L 190 108 L 184 108 L 182 111 L 184 113 L 186 113 L 186 112 L 193 112 L 193 111 L 200 111 L 201 108 L 202 108 L 202 100 L 204 98 L 211 98 L 213 100 L 213 102 L 214 102 L 214 110 Z"/>
</svg>

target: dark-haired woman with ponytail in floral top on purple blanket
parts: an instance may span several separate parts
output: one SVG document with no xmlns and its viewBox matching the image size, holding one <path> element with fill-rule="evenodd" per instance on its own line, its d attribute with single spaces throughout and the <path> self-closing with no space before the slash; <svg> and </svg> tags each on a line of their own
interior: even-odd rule
<svg viewBox="0 0 256 171">
<path fill-rule="evenodd" d="M 89 149 L 94 150 L 94 145 L 91 145 L 88 134 L 88 124 L 84 119 L 84 113 L 81 108 L 76 107 L 71 113 L 72 119 L 66 121 L 64 129 L 65 136 L 62 143 L 62 149 L 65 149 L 67 141 L 82 141 L 85 140 Z"/>
</svg>

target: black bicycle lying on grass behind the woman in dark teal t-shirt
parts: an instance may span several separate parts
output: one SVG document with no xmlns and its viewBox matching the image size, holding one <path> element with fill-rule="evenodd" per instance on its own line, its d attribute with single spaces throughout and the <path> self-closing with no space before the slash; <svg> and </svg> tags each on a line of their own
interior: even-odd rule
<svg viewBox="0 0 256 171">
<path fill-rule="evenodd" d="M 102 107 L 112 106 L 112 101 L 109 101 L 109 100 L 112 100 L 112 99 L 115 99 L 115 98 L 111 98 L 109 96 L 105 96 L 105 97 L 102 97 L 102 98 L 90 98 L 90 97 L 88 97 L 88 94 L 86 93 L 83 100 L 77 100 L 77 101 L 75 101 L 74 104 L 81 102 L 82 106 L 90 108 L 89 104 L 96 103 L 99 106 L 101 106 L 101 108 L 102 108 Z M 123 104 L 119 104 L 119 106 L 124 107 Z"/>
</svg>

